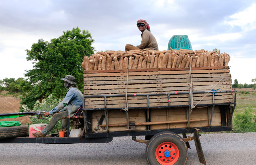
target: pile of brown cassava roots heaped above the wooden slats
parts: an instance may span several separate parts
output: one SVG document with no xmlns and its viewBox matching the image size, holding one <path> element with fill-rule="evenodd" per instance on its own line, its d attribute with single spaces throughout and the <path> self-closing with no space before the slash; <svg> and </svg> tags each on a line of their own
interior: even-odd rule
<svg viewBox="0 0 256 165">
<path fill-rule="evenodd" d="M 208 50 L 130 50 L 97 52 L 84 56 L 84 70 L 186 68 L 228 66 L 230 55 Z"/>
</svg>

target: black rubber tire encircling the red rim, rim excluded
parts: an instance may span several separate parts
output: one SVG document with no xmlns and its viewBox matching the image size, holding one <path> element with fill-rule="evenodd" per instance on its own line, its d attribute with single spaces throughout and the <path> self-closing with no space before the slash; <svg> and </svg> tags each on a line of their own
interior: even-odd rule
<svg viewBox="0 0 256 165">
<path fill-rule="evenodd" d="M 146 157 L 149 165 L 161 165 L 156 158 L 156 149 L 164 142 L 171 142 L 178 147 L 179 157 L 173 165 L 185 165 L 188 160 L 188 147 L 183 138 L 178 134 L 169 131 L 160 132 L 154 135 L 147 144 Z M 172 164 L 172 162 L 170 162 L 170 164 Z"/>
</svg>

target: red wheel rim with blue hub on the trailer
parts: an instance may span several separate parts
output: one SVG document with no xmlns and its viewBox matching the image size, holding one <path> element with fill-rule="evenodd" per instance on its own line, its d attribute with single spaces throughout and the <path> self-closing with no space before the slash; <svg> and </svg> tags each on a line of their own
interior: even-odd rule
<svg viewBox="0 0 256 165">
<path fill-rule="evenodd" d="M 178 147 L 171 142 L 163 142 L 156 149 L 156 159 L 161 165 L 173 165 L 180 156 Z"/>
</svg>

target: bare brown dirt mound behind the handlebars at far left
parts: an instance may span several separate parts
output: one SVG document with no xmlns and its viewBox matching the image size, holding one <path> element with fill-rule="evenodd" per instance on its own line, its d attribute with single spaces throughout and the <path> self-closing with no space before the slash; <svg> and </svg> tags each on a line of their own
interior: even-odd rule
<svg viewBox="0 0 256 165">
<path fill-rule="evenodd" d="M 20 99 L 12 96 L 0 96 L 0 114 L 19 112 Z M 20 121 L 21 124 L 29 123 L 30 118 L 0 119 L 0 121 Z"/>
</svg>

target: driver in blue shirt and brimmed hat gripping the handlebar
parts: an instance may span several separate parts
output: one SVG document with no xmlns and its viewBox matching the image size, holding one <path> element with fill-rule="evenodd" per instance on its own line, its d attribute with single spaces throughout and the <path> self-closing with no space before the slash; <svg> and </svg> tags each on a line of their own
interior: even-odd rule
<svg viewBox="0 0 256 165">
<path fill-rule="evenodd" d="M 61 130 L 67 130 L 67 118 L 74 116 L 80 106 L 83 105 L 83 94 L 76 87 L 75 77 L 67 75 L 65 78 L 61 78 L 61 80 L 65 81 L 64 87 L 68 89 L 67 94 L 59 105 L 44 114 L 45 117 L 48 117 L 49 115 L 56 113 L 52 116 L 50 123 L 41 132 L 32 134 L 34 137 L 45 137 L 55 127 L 59 120 L 62 120 Z"/>
</svg>

